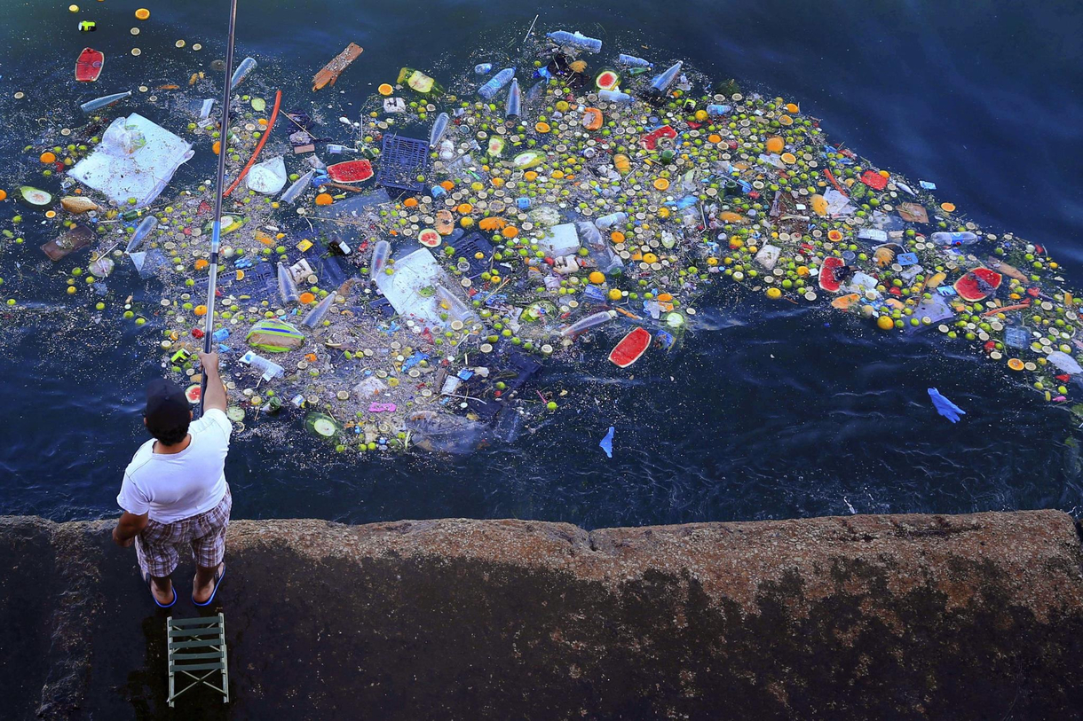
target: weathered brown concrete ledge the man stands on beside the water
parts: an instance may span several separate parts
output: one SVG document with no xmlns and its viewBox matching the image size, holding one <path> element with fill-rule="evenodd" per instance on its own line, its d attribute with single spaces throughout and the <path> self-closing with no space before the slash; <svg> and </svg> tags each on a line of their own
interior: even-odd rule
<svg viewBox="0 0 1083 721">
<path fill-rule="evenodd" d="M 233 700 L 175 713 L 166 614 L 110 527 L 0 519 L 3 718 L 1083 717 L 1083 551 L 1059 512 L 235 522 Z"/>
</svg>

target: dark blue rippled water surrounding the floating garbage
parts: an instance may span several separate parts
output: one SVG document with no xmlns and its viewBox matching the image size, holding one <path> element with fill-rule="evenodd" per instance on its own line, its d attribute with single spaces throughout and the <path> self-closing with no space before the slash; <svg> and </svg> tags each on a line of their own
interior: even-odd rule
<svg viewBox="0 0 1083 721">
<path fill-rule="evenodd" d="M 99 23 L 89 44 L 109 56 L 103 92 L 183 84 L 198 62 L 209 69 L 224 54 L 222 2 L 160 2 L 147 23 L 132 18 L 132 3 L 83 4 L 79 16 L 52 2 L 4 4 L 0 110 L 12 107 L 17 90 L 42 113 L 74 104 L 70 66 L 88 44 L 76 30 L 80 18 Z M 482 56 L 499 57 L 540 13 L 545 30 L 580 29 L 614 51 L 684 58 L 719 79 L 799 102 L 831 137 L 936 182 L 941 199 L 989 230 L 1048 246 L 1072 285 L 1083 286 L 1080 5 L 587 5 L 242 0 L 238 55 L 256 55 L 268 78 L 298 89 L 287 103 L 300 106 L 325 97 L 299 89 L 355 41 L 365 53 L 331 92 L 360 101 L 402 65 L 435 68 L 443 79 Z M 129 35 L 134 25 L 138 38 Z M 179 38 L 204 50 L 177 51 Z M 141 56 L 128 54 L 133 47 Z M 0 178 L 9 191 L 35 169 L 19 155 L 32 130 L 3 131 Z M 209 163 L 197 157 L 179 181 L 210 176 Z M 10 206 L 0 212 L 10 214 Z M 26 249 L 9 247 L 0 257 L 9 281 L 0 293 L 32 287 L 43 307 L 0 317 L 0 512 L 110 514 L 120 472 L 144 440 L 142 385 L 158 355 L 146 332 L 123 324 L 65 326 L 63 279 L 15 268 L 45 239 L 26 231 Z M 645 357 L 630 380 L 604 362 L 609 340 L 551 366 L 537 386 L 570 397 L 510 446 L 457 458 L 357 460 L 306 442 L 287 448 L 240 437 L 226 467 L 234 514 L 518 516 L 603 526 L 1083 507 L 1068 414 L 969 351 L 938 338 L 875 333 L 824 311 L 780 311 L 732 290 L 701 305 L 714 309 L 704 327 L 679 352 Z M 932 412 L 926 388 L 934 385 L 967 410 L 963 422 Z M 597 441 L 611 424 L 609 460 Z M 303 437 L 299 430 L 296 437 Z"/>
</svg>

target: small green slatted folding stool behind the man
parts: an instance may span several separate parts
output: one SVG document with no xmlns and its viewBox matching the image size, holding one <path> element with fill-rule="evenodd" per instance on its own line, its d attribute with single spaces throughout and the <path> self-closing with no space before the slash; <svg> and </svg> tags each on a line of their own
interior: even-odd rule
<svg viewBox="0 0 1083 721">
<path fill-rule="evenodd" d="M 222 614 L 203 618 L 166 619 L 169 637 L 169 706 L 173 699 L 200 683 L 222 694 L 222 703 L 230 703 L 230 669 L 225 658 L 225 618 Z M 221 687 L 207 679 L 216 672 L 222 674 Z M 192 683 L 177 691 L 177 674 L 193 679 Z"/>
</svg>

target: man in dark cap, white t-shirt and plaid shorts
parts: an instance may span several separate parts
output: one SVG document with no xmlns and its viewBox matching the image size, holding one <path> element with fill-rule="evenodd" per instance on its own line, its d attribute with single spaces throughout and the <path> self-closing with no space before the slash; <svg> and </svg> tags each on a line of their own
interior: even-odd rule
<svg viewBox="0 0 1083 721">
<path fill-rule="evenodd" d="M 233 499 L 225 483 L 225 455 L 233 430 L 225 416 L 225 386 L 218 354 L 200 353 L 207 376 L 204 416 L 192 421 L 184 391 L 156 378 L 146 389 L 143 423 L 154 436 L 125 470 L 117 503 L 125 513 L 113 530 L 122 548 L 134 541 L 135 556 L 162 608 L 177 603 L 170 576 L 181 553 L 196 559 L 192 602 L 208 606 L 225 575 L 225 528 Z"/>
</svg>

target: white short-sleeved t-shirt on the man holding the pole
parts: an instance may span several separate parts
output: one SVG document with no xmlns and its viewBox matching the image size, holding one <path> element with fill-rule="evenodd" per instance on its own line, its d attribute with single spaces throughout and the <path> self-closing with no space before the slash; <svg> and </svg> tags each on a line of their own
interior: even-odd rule
<svg viewBox="0 0 1083 721">
<path fill-rule="evenodd" d="M 225 497 L 225 455 L 233 424 L 217 408 L 188 425 L 192 443 L 179 454 L 154 453 L 154 438 L 125 470 L 117 503 L 152 521 L 173 523 L 206 513 Z"/>
</svg>

